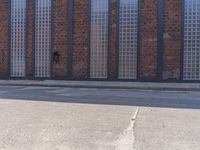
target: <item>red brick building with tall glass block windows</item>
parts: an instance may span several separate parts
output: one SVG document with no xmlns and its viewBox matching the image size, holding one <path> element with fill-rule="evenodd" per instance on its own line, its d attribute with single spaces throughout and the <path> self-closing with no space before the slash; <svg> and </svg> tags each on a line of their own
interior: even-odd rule
<svg viewBox="0 0 200 150">
<path fill-rule="evenodd" d="M 200 1 L 0 0 L 0 79 L 200 81 Z"/>
</svg>

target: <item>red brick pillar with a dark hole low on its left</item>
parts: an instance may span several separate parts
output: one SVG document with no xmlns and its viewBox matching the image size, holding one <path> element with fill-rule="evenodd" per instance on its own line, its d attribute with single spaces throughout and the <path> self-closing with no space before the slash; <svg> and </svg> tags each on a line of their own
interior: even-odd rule
<svg viewBox="0 0 200 150">
<path fill-rule="evenodd" d="M 53 1 L 53 51 L 52 56 L 59 56 L 59 60 L 52 60 L 52 77 L 66 79 L 67 77 L 67 0 Z"/>
</svg>

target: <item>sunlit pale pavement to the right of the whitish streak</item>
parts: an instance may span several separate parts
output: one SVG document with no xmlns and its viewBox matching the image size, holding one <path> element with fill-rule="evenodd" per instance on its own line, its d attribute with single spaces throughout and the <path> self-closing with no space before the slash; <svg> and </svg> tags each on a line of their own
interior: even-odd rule
<svg viewBox="0 0 200 150">
<path fill-rule="evenodd" d="M 141 107 L 134 126 L 135 150 L 199 150 L 199 109 Z"/>
</svg>

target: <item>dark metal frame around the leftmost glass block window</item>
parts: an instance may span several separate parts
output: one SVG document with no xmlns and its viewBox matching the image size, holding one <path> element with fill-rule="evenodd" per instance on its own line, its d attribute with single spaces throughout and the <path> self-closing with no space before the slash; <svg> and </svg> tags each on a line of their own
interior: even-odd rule
<svg viewBox="0 0 200 150">
<path fill-rule="evenodd" d="M 29 23 L 29 21 L 28 21 L 28 6 L 29 6 L 29 1 L 28 0 L 26 0 L 26 24 L 25 24 L 25 30 L 26 30 L 26 33 L 25 33 L 25 37 L 26 37 L 26 39 L 25 39 L 25 76 L 24 77 L 12 77 L 11 76 L 11 9 L 12 9 L 12 7 L 11 7 L 11 4 L 12 2 L 11 2 L 11 0 L 9 0 L 8 1 L 8 16 L 9 16 L 9 29 L 8 29 L 8 78 L 9 79 L 26 79 L 27 78 L 27 51 L 28 51 L 28 23 Z"/>
</svg>

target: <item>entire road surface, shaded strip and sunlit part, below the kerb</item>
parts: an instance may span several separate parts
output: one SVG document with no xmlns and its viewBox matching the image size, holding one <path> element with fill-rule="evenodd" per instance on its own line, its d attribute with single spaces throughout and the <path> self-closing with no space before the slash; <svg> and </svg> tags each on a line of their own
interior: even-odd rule
<svg viewBox="0 0 200 150">
<path fill-rule="evenodd" d="M 0 150 L 199 150 L 200 93 L 0 86 Z"/>
</svg>

